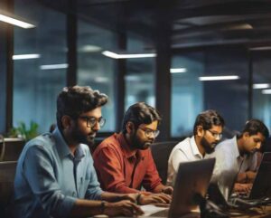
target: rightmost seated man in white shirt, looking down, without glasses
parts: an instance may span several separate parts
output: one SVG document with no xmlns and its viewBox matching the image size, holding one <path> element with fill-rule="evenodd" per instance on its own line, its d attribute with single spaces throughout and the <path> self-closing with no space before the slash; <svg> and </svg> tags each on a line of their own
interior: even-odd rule
<svg viewBox="0 0 271 218">
<path fill-rule="evenodd" d="M 257 151 L 269 136 L 265 124 L 257 119 L 250 119 L 240 135 L 222 141 L 212 156 L 215 156 L 216 166 L 212 180 L 218 181 L 223 194 L 229 192 L 227 176 L 238 175 L 235 191 L 248 192 L 257 171 Z"/>
</svg>

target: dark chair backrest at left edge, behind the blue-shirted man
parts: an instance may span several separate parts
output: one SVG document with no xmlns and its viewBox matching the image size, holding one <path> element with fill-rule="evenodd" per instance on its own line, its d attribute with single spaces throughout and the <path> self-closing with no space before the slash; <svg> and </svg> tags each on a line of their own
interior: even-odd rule
<svg viewBox="0 0 271 218">
<path fill-rule="evenodd" d="M 17 161 L 0 162 L 0 214 L 8 217 L 7 211 L 14 194 L 14 176 Z"/>
</svg>

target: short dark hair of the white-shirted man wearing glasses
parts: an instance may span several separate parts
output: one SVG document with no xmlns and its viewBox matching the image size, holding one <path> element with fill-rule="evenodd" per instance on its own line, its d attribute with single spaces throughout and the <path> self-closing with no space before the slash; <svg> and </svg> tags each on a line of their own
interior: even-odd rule
<svg viewBox="0 0 271 218">
<path fill-rule="evenodd" d="M 194 123 L 193 133 L 197 134 L 197 127 L 201 126 L 203 129 L 208 130 L 212 126 L 221 126 L 222 128 L 225 125 L 224 118 L 222 118 L 218 111 L 214 109 L 208 109 L 201 112 Z"/>
</svg>

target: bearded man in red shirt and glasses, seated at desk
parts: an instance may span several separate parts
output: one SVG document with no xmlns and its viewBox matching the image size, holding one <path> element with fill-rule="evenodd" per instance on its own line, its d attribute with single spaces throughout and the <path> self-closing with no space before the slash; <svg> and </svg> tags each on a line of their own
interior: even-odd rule
<svg viewBox="0 0 271 218">
<path fill-rule="evenodd" d="M 139 193 L 141 186 L 154 197 L 172 194 L 154 165 L 150 146 L 158 136 L 158 111 L 144 102 L 132 105 L 124 117 L 122 132 L 107 137 L 93 153 L 101 187 L 110 192 Z"/>
</svg>

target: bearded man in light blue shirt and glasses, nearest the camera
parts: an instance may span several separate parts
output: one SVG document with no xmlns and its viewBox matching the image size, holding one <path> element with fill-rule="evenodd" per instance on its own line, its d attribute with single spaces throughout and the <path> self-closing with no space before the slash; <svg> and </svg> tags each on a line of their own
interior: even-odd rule
<svg viewBox="0 0 271 218">
<path fill-rule="evenodd" d="M 106 103 L 106 95 L 89 87 L 61 91 L 57 100 L 57 128 L 28 142 L 18 160 L 14 217 L 142 213 L 137 205 L 127 201 L 135 201 L 136 195 L 111 194 L 100 189 L 89 147 L 84 145 L 93 143 L 104 125 L 101 107 Z M 119 201 L 124 199 L 127 200 Z"/>
</svg>

